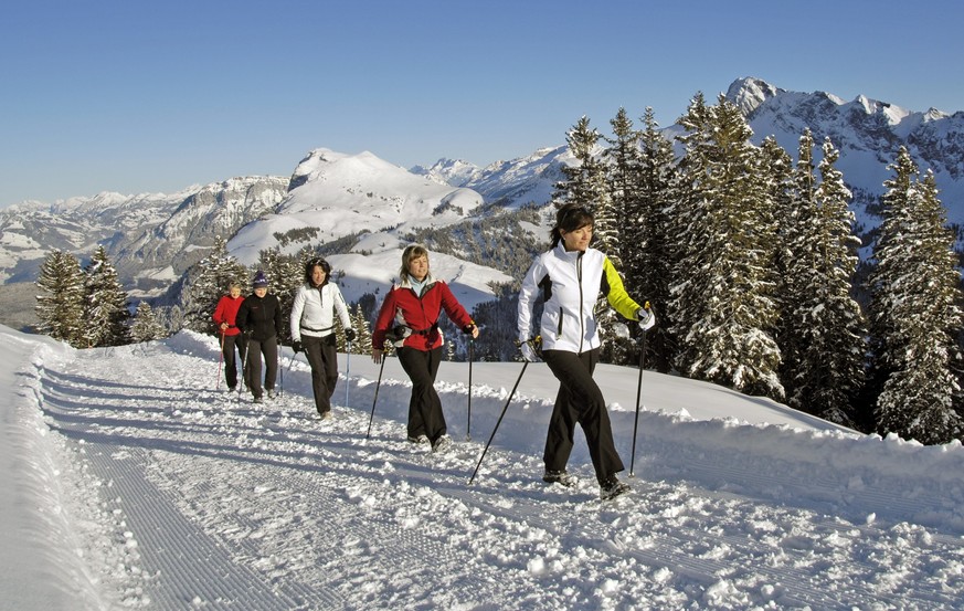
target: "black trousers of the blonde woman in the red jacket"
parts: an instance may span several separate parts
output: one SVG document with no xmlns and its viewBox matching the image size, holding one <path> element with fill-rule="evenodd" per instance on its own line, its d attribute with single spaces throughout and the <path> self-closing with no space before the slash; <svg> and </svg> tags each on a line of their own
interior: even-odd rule
<svg viewBox="0 0 964 611">
<path fill-rule="evenodd" d="M 399 362 L 412 380 L 412 399 L 409 401 L 409 436 L 425 435 L 433 444 L 447 431 L 442 400 L 435 392 L 435 375 L 442 362 L 442 348 L 419 350 L 398 349 Z"/>
</svg>

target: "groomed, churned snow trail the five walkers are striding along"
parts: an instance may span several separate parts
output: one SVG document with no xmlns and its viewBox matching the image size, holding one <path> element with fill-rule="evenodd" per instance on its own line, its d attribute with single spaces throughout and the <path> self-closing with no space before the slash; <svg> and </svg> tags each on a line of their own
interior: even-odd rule
<svg viewBox="0 0 964 611">
<path fill-rule="evenodd" d="M 88 350 L 42 372 L 47 422 L 115 530 L 103 545 L 126 551 L 99 568 L 118 608 L 951 609 L 964 592 L 954 533 L 647 480 L 652 455 L 608 503 L 587 465 L 575 489 L 545 486 L 538 453 L 498 446 L 468 486 L 490 430 L 453 433 L 442 455 L 405 442 L 405 383 L 383 381 L 366 439 L 373 380 L 352 380 L 346 408 L 342 379 L 322 422 L 304 364 L 254 404 L 215 391 L 199 351 Z M 501 409 L 498 390 L 474 392 L 474 409 Z M 706 478 L 765 472 L 697 459 Z"/>
</svg>

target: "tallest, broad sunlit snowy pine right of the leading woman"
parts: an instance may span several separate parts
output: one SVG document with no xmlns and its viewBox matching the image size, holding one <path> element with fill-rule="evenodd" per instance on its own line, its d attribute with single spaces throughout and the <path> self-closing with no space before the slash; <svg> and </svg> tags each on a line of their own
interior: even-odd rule
<svg viewBox="0 0 964 611">
<path fill-rule="evenodd" d="M 740 109 L 723 95 L 693 98 L 679 119 L 688 196 L 675 222 L 680 260 L 671 312 L 687 376 L 783 397 L 773 270 L 773 202 L 761 154 Z"/>
</svg>

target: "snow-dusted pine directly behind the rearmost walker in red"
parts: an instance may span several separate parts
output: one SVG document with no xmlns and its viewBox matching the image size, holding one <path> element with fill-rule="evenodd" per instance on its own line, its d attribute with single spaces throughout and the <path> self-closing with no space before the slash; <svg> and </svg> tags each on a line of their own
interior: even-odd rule
<svg viewBox="0 0 964 611">
<path fill-rule="evenodd" d="M 218 301 L 227 294 L 227 286 L 232 282 L 241 284 L 243 294 L 250 291 L 250 275 L 244 265 L 227 254 L 227 242 L 220 235 L 216 236 L 211 254 L 188 271 L 186 287 L 181 292 L 183 328 L 216 335 L 212 317 Z"/>
</svg>

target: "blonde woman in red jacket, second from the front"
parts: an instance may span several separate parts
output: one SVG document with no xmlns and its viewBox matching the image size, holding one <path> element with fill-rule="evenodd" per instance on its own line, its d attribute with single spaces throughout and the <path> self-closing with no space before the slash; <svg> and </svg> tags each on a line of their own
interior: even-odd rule
<svg viewBox="0 0 964 611">
<path fill-rule="evenodd" d="M 412 244 L 402 253 L 400 282 L 392 286 L 379 312 L 372 333 L 371 357 L 382 360 L 385 337 L 392 335 L 399 362 L 412 380 L 409 401 L 409 441 L 432 444 L 433 452 L 452 445 L 446 434 L 442 400 L 435 392 L 435 375 L 442 361 L 442 310 L 462 331 L 478 337 L 478 327 L 452 294 L 448 285 L 428 273 L 428 251 Z"/>
</svg>

